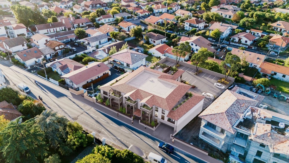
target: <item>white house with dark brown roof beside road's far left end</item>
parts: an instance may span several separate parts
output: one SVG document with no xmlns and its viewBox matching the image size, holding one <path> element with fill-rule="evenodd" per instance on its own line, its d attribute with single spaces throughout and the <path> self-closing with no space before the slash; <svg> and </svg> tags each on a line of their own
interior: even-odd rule
<svg viewBox="0 0 289 163">
<path fill-rule="evenodd" d="M 27 43 L 28 41 L 26 41 L 24 37 L 19 36 L 19 37 L 15 37 L 12 39 L 4 40 L 3 46 L 5 50 L 7 50 L 8 52 L 15 53 L 15 52 L 27 49 L 27 45 L 26 45 Z"/>
</svg>

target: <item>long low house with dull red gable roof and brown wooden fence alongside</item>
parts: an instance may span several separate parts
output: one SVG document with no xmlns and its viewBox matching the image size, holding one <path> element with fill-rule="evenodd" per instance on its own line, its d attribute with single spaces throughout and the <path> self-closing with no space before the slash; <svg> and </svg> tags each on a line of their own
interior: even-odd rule
<svg viewBox="0 0 289 163">
<path fill-rule="evenodd" d="M 109 74 L 109 67 L 103 62 L 93 62 L 68 74 L 61 76 L 65 83 L 72 88 L 82 87 L 84 84 L 91 82 L 103 75 Z"/>
</svg>

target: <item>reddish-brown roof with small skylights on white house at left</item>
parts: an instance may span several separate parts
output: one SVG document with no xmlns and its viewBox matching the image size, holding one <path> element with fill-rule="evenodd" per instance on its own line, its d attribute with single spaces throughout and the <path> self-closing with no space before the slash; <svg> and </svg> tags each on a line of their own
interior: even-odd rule
<svg viewBox="0 0 289 163">
<path fill-rule="evenodd" d="M 17 52 L 16 55 L 18 55 L 23 61 L 28 61 L 30 59 L 42 57 L 43 53 L 37 47 L 34 47 Z"/>
</svg>

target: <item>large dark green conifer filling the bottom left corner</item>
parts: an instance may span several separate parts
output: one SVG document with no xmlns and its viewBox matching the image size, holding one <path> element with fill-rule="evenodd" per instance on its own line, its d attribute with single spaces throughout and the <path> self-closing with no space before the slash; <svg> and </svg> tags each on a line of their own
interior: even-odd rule
<svg viewBox="0 0 289 163">
<path fill-rule="evenodd" d="M 34 125 L 33 119 L 19 123 L 21 118 L 8 123 L 0 132 L 3 136 L 1 152 L 6 162 L 38 162 L 38 158 L 43 158 L 48 150 L 44 133 Z"/>
</svg>

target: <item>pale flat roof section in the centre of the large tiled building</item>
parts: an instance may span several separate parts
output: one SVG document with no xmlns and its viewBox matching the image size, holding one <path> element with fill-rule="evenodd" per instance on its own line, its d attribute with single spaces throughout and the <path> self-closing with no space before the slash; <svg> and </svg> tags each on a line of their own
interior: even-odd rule
<svg viewBox="0 0 289 163">
<path fill-rule="evenodd" d="M 159 97 L 166 98 L 177 86 L 162 79 L 158 79 L 159 76 L 159 74 L 150 71 L 143 71 L 141 74 L 129 80 L 126 84 Z"/>
</svg>

